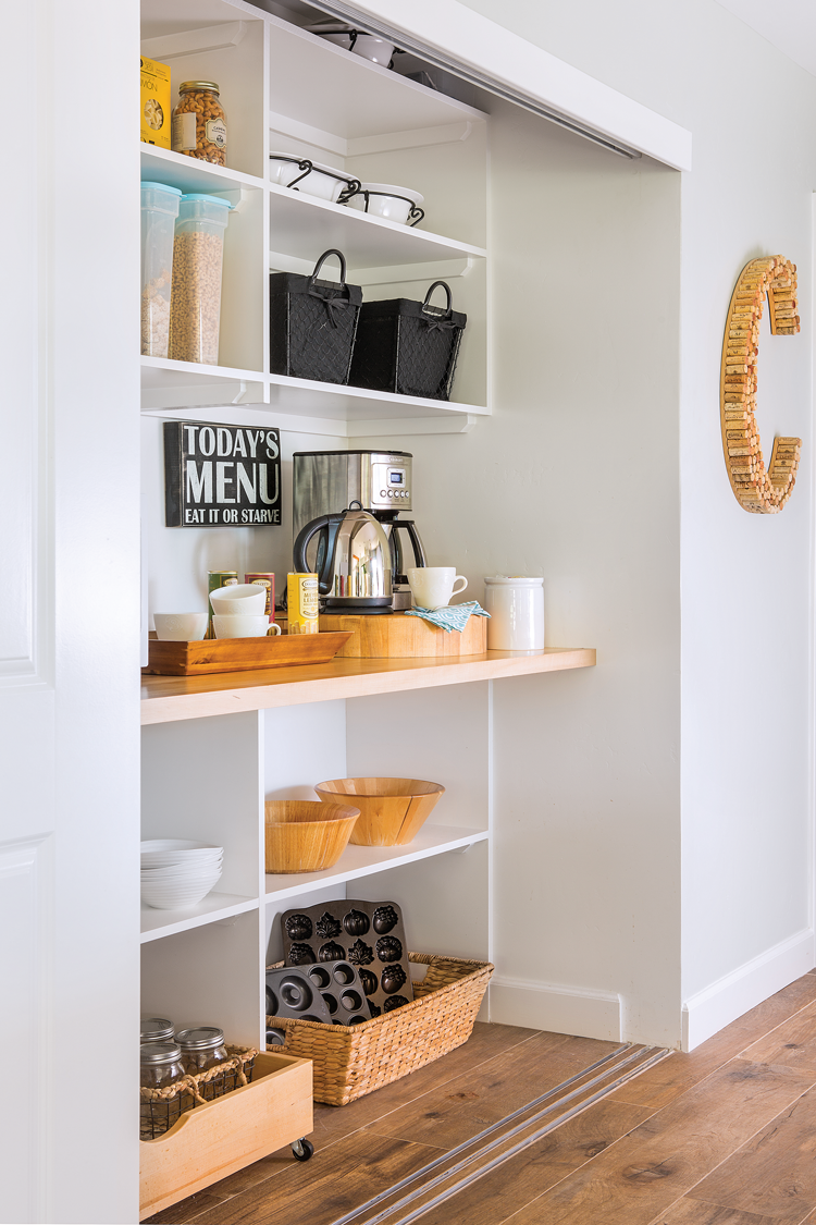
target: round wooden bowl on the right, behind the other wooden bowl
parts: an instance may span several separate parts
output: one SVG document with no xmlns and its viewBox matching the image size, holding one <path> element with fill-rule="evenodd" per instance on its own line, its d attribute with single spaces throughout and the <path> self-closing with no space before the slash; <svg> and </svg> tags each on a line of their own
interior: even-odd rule
<svg viewBox="0 0 816 1225">
<path fill-rule="evenodd" d="M 357 846 L 404 846 L 414 842 L 444 786 L 420 778 L 334 778 L 314 788 L 325 805 L 346 799 L 360 809 L 351 831 Z"/>
</svg>

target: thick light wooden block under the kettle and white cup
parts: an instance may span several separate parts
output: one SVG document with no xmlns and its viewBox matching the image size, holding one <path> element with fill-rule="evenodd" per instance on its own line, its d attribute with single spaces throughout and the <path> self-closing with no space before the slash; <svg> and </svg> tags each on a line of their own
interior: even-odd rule
<svg viewBox="0 0 816 1225">
<path fill-rule="evenodd" d="M 339 650 L 341 659 L 420 659 L 432 655 L 459 658 L 483 655 L 487 650 L 487 617 L 470 616 L 458 633 L 447 633 L 421 616 L 391 612 L 385 616 L 322 616 L 324 630 L 350 630 L 350 641 Z"/>
</svg>

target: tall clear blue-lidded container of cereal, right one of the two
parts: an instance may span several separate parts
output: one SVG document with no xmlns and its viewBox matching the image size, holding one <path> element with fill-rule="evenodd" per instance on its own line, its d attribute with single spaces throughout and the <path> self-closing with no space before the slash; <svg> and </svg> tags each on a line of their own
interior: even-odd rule
<svg viewBox="0 0 816 1225">
<path fill-rule="evenodd" d="M 218 365 L 224 230 L 231 205 L 218 196 L 181 197 L 172 244 L 170 356 Z"/>
</svg>

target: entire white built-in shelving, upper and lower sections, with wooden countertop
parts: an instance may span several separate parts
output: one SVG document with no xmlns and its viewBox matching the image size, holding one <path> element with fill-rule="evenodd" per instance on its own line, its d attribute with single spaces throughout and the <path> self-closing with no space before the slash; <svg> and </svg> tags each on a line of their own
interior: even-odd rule
<svg viewBox="0 0 816 1225">
<path fill-rule="evenodd" d="M 339 437 L 472 429 L 491 412 L 488 116 L 242 0 L 144 0 L 144 12 L 143 53 L 170 64 L 174 91 L 185 78 L 219 82 L 230 167 L 142 147 L 143 178 L 224 195 L 234 209 L 219 365 L 143 358 L 143 414 Z M 394 225 L 272 184 L 270 151 L 415 187 L 426 219 Z M 269 372 L 268 273 L 311 272 L 329 247 L 344 251 L 349 281 L 369 299 L 422 298 L 433 281 L 450 282 L 467 314 L 455 402 Z M 491 685 L 588 666 L 593 653 L 356 663 L 213 677 L 187 693 L 177 679 L 146 686 L 142 837 L 204 839 L 225 855 L 219 892 L 197 908 L 143 910 L 143 1011 L 263 1046 L 263 971 L 281 956 L 280 915 L 338 898 L 399 903 L 415 951 L 488 956 Z M 268 876 L 264 801 L 313 799 L 318 782 L 356 775 L 447 790 L 407 846 L 349 845 L 328 871 Z"/>
</svg>

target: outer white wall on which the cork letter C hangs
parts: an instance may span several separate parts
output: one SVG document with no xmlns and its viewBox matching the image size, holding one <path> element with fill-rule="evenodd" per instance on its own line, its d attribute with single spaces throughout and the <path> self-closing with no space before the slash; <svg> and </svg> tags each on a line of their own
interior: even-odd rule
<svg viewBox="0 0 816 1225">
<path fill-rule="evenodd" d="M 814 960 L 810 200 L 816 81 L 713 0 L 467 0 L 467 6 L 694 136 L 694 169 L 684 176 L 681 203 L 680 410 L 683 995 L 691 1006 L 688 1040 L 694 1045 Z M 788 507 L 763 517 L 747 516 L 730 492 L 717 394 L 734 281 L 747 260 L 774 252 L 799 266 L 805 326 L 799 337 L 768 337 L 762 344 L 759 424 L 766 458 L 773 434 L 784 432 L 804 439 L 804 459 Z M 673 383 L 657 391 L 656 412 L 673 412 L 667 403 Z M 650 467 L 663 467 L 666 458 L 652 452 Z M 562 530 L 552 521 L 546 527 Z M 588 524 L 573 527 L 580 537 Z M 558 604 L 566 611 L 563 599 Z M 575 626 L 574 608 L 564 621 Z M 637 747 L 630 744 L 626 756 Z M 646 755 L 644 769 L 651 769 Z M 706 1020 L 695 1027 L 695 1003 L 703 996 Z M 713 1008 L 712 998 L 719 1000 Z"/>
</svg>

